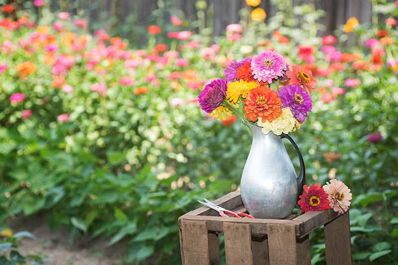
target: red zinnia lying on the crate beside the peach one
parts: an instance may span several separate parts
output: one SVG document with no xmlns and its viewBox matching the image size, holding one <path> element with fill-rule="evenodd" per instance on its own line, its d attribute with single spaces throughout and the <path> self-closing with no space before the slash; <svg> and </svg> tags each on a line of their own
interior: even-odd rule
<svg viewBox="0 0 398 265">
<path fill-rule="evenodd" d="M 317 185 L 312 184 L 309 188 L 307 185 L 303 186 L 304 192 L 300 195 L 298 204 L 303 212 L 308 211 L 323 211 L 330 208 L 328 195 L 323 188 L 320 187 L 320 183 Z"/>
</svg>

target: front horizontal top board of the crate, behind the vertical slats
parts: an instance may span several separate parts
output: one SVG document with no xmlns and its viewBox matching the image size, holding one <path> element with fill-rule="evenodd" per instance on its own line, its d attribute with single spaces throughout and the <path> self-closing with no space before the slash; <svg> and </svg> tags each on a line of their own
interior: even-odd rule
<svg viewBox="0 0 398 265">
<path fill-rule="evenodd" d="M 293 225 L 296 227 L 296 234 L 299 234 L 300 221 L 295 220 L 277 220 L 277 219 L 249 219 L 234 218 L 221 216 L 201 216 L 201 215 L 183 215 L 180 220 L 207 221 L 207 229 L 212 232 L 224 232 L 223 223 L 248 223 L 252 231 L 252 235 L 265 235 L 268 232 L 269 224 Z"/>
</svg>

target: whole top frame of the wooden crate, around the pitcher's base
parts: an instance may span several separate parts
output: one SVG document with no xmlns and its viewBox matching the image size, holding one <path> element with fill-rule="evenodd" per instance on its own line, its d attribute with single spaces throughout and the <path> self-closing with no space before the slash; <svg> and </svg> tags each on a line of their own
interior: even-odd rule
<svg viewBox="0 0 398 265">
<path fill-rule="evenodd" d="M 230 192 L 225 196 L 213 201 L 214 204 L 233 211 L 246 212 L 243 206 L 240 192 Z M 289 215 L 285 219 L 249 219 L 221 217 L 213 209 L 202 206 L 198 209 L 190 211 L 179 218 L 179 226 L 182 220 L 206 221 L 208 231 L 223 233 L 223 224 L 228 223 L 245 223 L 250 224 L 251 232 L 254 236 L 263 236 L 267 234 L 268 224 L 286 224 L 295 225 L 296 236 L 298 238 L 305 237 L 310 232 L 321 225 L 329 223 L 339 216 L 338 212 L 333 209 L 317 212 L 306 212 L 301 215 Z"/>
</svg>

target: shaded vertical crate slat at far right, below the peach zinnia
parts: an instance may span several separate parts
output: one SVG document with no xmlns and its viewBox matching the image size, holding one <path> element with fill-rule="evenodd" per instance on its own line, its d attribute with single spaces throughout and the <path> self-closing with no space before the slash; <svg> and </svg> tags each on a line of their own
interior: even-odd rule
<svg viewBox="0 0 398 265">
<path fill-rule="evenodd" d="M 349 212 L 325 224 L 324 231 L 327 265 L 351 265 Z"/>
</svg>

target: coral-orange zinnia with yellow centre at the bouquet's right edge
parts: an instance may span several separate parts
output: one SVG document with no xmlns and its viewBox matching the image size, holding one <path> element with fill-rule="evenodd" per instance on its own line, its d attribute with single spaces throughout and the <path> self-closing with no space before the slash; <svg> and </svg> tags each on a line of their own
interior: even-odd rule
<svg viewBox="0 0 398 265">
<path fill-rule="evenodd" d="M 296 84 L 302 86 L 303 91 L 308 89 L 308 92 L 311 93 L 316 87 L 316 80 L 312 76 L 311 70 L 305 67 L 293 65 L 292 70 L 289 70 L 286 76 L 289 79 L 289 85 Z"/>
</svg>

